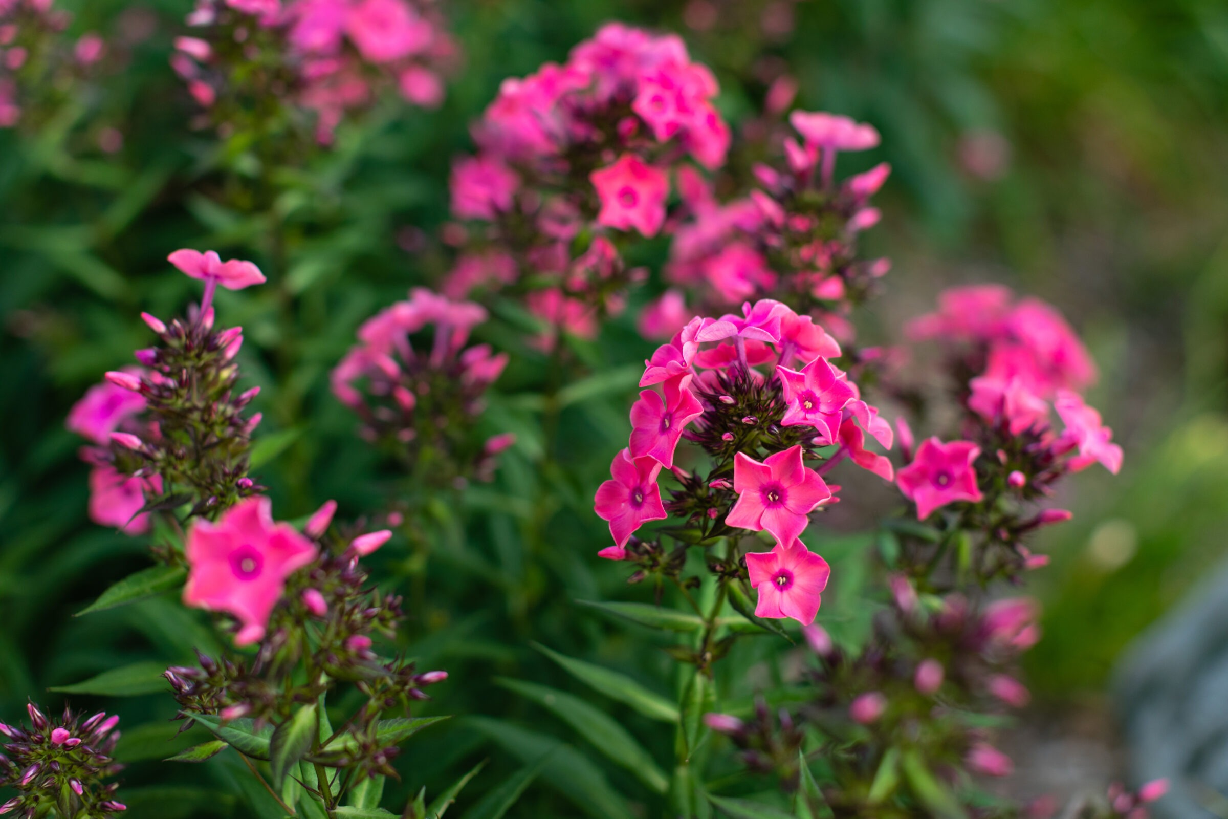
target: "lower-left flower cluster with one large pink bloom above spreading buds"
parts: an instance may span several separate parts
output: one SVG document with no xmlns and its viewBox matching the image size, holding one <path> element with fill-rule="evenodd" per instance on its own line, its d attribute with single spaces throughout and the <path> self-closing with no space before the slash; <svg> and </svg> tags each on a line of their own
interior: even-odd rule
<svg viewBox="0 0 1228 819">
<path fill-rule="evenodd" d="M 359 561 L 392 533 L 340 537 L 332 527 L 335 510 L 329 501 L 302 532 L 274 522 L 265 497 L 241 501 L 216 523 L 198 521 L 184 550 L 183 600 L 228 615 L 235 642 L 255 651 L 242 658 L 198 652 L 199 667 L 173 667 L 166 678 L 181 718 L 257 728 L 286 724 L 339 683 L 351 683 L 365 704 L 332 737 L 313 734 L 303 755 L 324 767 L 395 776 L 389 763 L 400 738 L 381 732 L 379 717 L 427 699 L 422 686 L 447 674 L 419 673 L 411 662 L 376 653 L 375 637 L 395 636 L 400 598 L 370 587 Z"/>
</svg>

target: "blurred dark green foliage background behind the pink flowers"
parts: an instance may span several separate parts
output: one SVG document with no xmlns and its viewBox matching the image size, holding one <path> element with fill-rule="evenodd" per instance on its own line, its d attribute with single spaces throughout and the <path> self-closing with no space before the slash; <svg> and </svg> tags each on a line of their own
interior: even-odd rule
<svg viewBox="0 0 1228 819">
<path fill-rule="evenodd" d="M 1089 470 L 1068 481 L 1059 503 L 1074 521 L 1041 544 L 1054 561 L 1034 576 L 1046 610 L 1045 639 L 1029 657 L 1038 708 L 1102 710 L 1122 648 L 1222 559 L 1222 2 L 454 0 L 445 12 L 464 65 L 441 109 L 388 101 L 363 125 L 344 128 L 334 151 L 255 198 L 257 180 L 228 169 L 211 135 L 190 128 L 192 103 L 167 66 L 190 4 L 58 5 L 76 14 L 74 32 L 134 42 L 117 74 L 65 99 L 37 135 L 0 130 L 0 718 L 15 717 L 27 695 L 54 700 L 48 686 L 108 667 L 184 659 L 184 635 L 212 640 L 203 619 L 171 602 L 72 616 L 145 557 L 139 539 L 86 519 L 86 468 L 63 420 L 102 371 L 147 343 L 138 311 L 169 317 L 194 293 L 166 254 L 211 247 L 269 274 L 268 286 L 217 302 L 221 320 L 242 324 L 249 339 L 241 362 L 247 382 L 264 388 L 262 433 L 285 444 L 255 470 L 279 517 L 328 497 L 343 514 L 378 511 L 395 496 L 397 475 L 354 435 L 354 419 L 328 393 L 328 368 L 365 317 L 446 270 L 433 237 L 447 220 L 448 166 L 470 149 L 468 123 L 500 80 L 564 59 L 614 18 L 682 33 L 716 71 L 733 123 L 759 111 L 768 82 L 787 72 L 802 107 L 879 128 L 883 145 L 866 161 L 889 161 L 894 173 L 868 241 L 894 269 L 889 295 L 865 317 L 869 338 L 889 340 L 943 286 L 981 280 L 1050 300 L 1084 335 L 1102 367 L 1089 402 L 1114 427 L 1126 465 L 1116 479 Z M 124 135 L 115 155 L 97 149 L 107 126 Z M 657 269 L 666 247 L 650 244 L 645 260 Z M 517 344 L 515 320 L 497 316 L 478 336 Z M 465 497 L 480 526 L 465 529 L 457 510 L 437 503 L 431 532 L 448 537 L 430 554 L 384 557 L 410 597 L 410 653 L 453 674 L 427 707 L 485 715 L 456 721 L 442 750 L 413 745 L 406 790 L 481 755 L 512 765 L 511 749 L 528 742 L 516 731 L 575 742 L 491 683 L 502 674 L 571 685 L 530 640 L 643 679 L 666 677 L 663 653 L 646 656 L 624 630 L 570 602 L 639 593 L 624 587 L 620 569 L 597 565 L 605 534 L 591 497 L 623 446 L 634 366 L 650 349 L 629 311 L 582 351 L 589 371 L 608 377 L 569 395 L 555 425 L 538 400 L 545 357 L 513 347 L 484 424 L 516 431 L 519 442 L 496 484 Z M 233 802 L 246 787 L 237 771 L 215 765 L 201 786 L 196 771 L 152 761 L 169 755 L 173 728 L 158 722 L 173 713 L 169 697 L 118 707 L 129 728 L 141 726 L 122 749 L 133 763 L 125 790 L 138 792 L 129 802 L 158 805 L 135 815 L 195 815 L 201 792 L 185 788 L 200 787 L 222 796 L 199 815 L 230 804 L 248 815 Z M 535 797 L 533 815 L 564 815 L 560 805 L 592 782 L 637 804 L 636 783 L 618 769 L 548 774 L 554 788 Z"/>
</svg>

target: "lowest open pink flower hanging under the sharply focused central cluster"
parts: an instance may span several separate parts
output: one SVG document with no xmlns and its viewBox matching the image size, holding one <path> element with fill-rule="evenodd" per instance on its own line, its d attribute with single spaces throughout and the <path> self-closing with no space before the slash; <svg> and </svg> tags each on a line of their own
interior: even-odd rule
<svg viewBox="0 0 1228 819">
<path fill-rule="evenodd" d="M 792 618 L 803 626 L 814 623 L 831 570 L 828 561 L 808 551 L 801 540 L 748 554 L 747 571 L 750 584 L 759 592 L 755 616 Z"/>
</svg>

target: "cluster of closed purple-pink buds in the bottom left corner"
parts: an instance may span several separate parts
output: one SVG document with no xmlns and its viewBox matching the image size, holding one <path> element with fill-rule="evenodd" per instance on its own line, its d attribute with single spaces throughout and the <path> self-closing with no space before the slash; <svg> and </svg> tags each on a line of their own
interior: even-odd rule
<svg viewBox="0 0 1228 819">
<path fill-rule="evenodd" d="M 18 796 L 0 804 L 0 814 L 21 819 L 54 815 L 107 817 L 125 809 L 115 801 L 117 783 L 102 785 L 123 767 L 111 753 L 119 739 L 119 717 L 101 711 L 88 720 L 64 708 L 59 720 L 48 718 L 31 702 L 26 706 L 31 727 L 0 722 L 0 787 Z"/>
</svg>

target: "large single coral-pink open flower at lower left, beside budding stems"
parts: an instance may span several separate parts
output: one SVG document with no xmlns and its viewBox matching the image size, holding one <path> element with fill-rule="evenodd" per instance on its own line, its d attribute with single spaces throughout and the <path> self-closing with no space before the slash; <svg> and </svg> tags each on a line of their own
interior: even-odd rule
<svg viewBox="0 0 1228 819">
<path fill-rule="evenodd" d="M 188 533 L 183 602 L 233 614 L 243 624 L 235 642 L 257 642 L 264 637 L 286 578 L 314 560 L 317 551 L 289 523 L 273 522 L 269 499 L 239 501 L 217 523 L 198 521 Z"/>
</svg>

